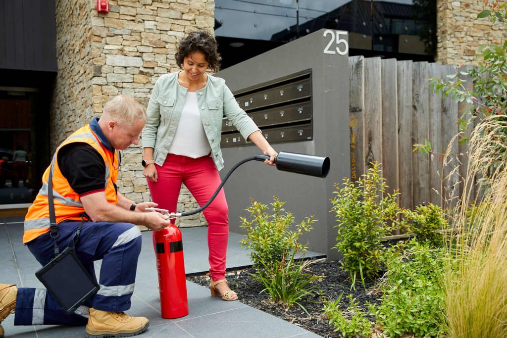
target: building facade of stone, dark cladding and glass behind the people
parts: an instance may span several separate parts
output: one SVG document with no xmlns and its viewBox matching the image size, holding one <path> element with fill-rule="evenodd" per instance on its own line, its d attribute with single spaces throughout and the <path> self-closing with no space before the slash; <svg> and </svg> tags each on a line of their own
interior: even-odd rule
<svg viewBox="0 0 507 338">
<path fill-rule="evenodd" d="M 128 94 L 146 106 L 157 79 L 178 70 L 175 48 L 186 32 L 214 32 L 224 67 L 321 28 L 349 31 L 349 55 L 448 64 L 472 63 L 480 45 L 499 41 L 505 33 L 500 25 L 476 19 L 483 9 L 481 0 L 110 0 L 108 4 L 107 13 L 98 13 L 96 0 L 0 3 L 5 23 L 0 31 L 0 44 L 5 45 L 0 58 L 0 114 L 8 120 L 12 109 L 18 109 L 16 99 L 28 111 L 25 122 L 6 124 L 2 133 L 27 133 L 22 147 L 31 156 L 28 191 L 3 198 L 0 190 L 0 204 L 20 203 L 21 195 L 23 202 L 29 201 L 56 146 L 100 115 L 107 100 Z M 12 34 L 18 34 L 17 39 L 11 39 Z M 42 37 L 47 40 L 44 44 L 39 41 Z M 33 46 L 30 50 L 27 41 Z M 28 54 L 47 62 L 37 64 Z M 12 137 L 0 144 L 0 150 L 16 148 L 18 136 Z M 119 189 L 132 200 L 149 201 L 140 161 L 140 147 L 124 151 Z M 184 189 L 177 211 L 196 207 Z M 195 217 L 181 220 L 181 225 L 205 224 L 202 215 Z"/>
</svg>

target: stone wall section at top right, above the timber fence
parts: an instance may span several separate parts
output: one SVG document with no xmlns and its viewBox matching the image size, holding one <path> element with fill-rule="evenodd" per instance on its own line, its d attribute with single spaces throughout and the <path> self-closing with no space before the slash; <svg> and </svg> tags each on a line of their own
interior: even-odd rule
<svg viewBox="0 0 507 338">
<path fill-rule="evenodd" d="M 475 63 L 479 46 L 500 42 L 501 23 L 477 19 L 484 10 L 482 0 L 437 1 L 437 57 L 444 64 Z"/>
</svg>

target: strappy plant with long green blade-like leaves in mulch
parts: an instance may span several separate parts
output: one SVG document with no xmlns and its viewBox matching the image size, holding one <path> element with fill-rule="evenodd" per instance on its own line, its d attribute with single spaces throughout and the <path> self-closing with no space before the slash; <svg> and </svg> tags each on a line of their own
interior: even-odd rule
<svg viewBox="0 0 507 338">
<path fill-rule="evenodd" d="M 265 265 L 261 261 L 264 269 L 258 270 L 252 276 L 264 285 L 265 288 L 261 292 L 269 293 L 275 303 L 285 308 L 297 304 L 308 314 L 300 299 L 315 290 L 317 285 L 314 282 L 320 280 L 321 276 L 314 275 L 309 270 L 314 260 L 295 260 L 295 253 L 296 249 L 288 259 L 285 259 L 284 253 L 272 266 Z"/>
</svg>

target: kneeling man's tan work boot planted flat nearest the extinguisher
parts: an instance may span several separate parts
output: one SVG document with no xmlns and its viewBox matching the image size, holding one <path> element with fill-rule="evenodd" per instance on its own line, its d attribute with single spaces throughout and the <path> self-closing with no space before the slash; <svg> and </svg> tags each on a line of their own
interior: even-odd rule
<svg viewBox="0 0 507 338">
<path fill-rule="evenodd" d="M 146 331 L 150 321 L 144 317 L 130 317 L 123 312 L 107 312 L 90 308 L 86 324 L 89 338 L 130 337 Z"/>
</svg>

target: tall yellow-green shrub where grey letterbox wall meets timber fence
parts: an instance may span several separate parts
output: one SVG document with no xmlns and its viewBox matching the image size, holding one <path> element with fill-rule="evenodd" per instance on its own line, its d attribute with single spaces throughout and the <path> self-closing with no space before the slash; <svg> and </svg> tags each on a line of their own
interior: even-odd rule
<svg viewBox="0 0 507 338">
<path fill-rule="evenodd" d="M 401 209 L 398 192 L 387 193 L 380 165 L 373 164 L 358 181 L 344 178 L 342 187 L 335 184 L 336 197 L 331 201 L 337 216 L 336 249 L 343 255 L 342 268 L 352 277 L 375 277 L 382 266 L 381 238 L 391 234 Z"/>
</svg>

